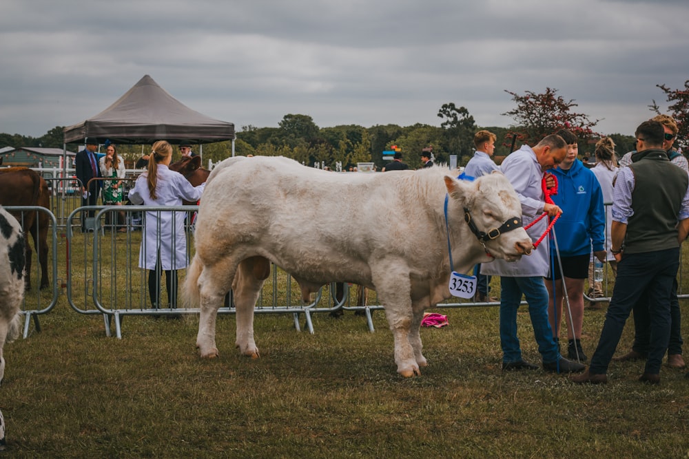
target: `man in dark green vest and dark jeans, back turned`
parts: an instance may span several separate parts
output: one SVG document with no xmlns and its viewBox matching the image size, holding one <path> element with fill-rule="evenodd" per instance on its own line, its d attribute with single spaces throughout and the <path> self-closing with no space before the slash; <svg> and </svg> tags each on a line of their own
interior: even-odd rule
<svg viewBox="0 0 689 459">
<path fill-rule="evenodd" d="M 658 384 L 670 337 L 670 294 L 679 268 L 679 248 L 689 234 L 689 175 L 670 163 L 662 148 L 665 131 L 642 122 L 633 163 L 620 169 L 613 191 L 610 252 L 617 279 L 591 365 L 575 383 L 607 383 L 608 364 L 624 323 L 641 295 L 648 295 L 650 342 L 639 381 Z"/>
</svg>

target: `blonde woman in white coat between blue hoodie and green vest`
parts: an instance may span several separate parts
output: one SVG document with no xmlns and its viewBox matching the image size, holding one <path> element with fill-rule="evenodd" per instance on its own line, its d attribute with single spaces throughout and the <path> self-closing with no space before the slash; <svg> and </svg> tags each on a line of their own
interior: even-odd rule
<svg viewBox="0 0 689 459">
<path fill-rule="evenodd" d="M 605 216 L 605 250 L 606 261 L 610 264 L 613 270 L 613 278 L 617 275 L 617 261 L 615 255 L 610 253 L 610 225 L 613 222 L 613 179 L 617 175 L 617 157 L 615 156 L 615 142 L 609 137 L 601 138 L 596 143 L 596 165 L 591 169 L 598 182 L 601 184 L 601 191 L 603 191 L 603 203 L 606 204 Z M 588 297 L 597 298 L 604 295 L 603 286 L 601 282 L 595 281 L 593 278 L 593 259 L 588 265 Z M 590 301 L 588 303 L 589 309 L 600 309 L 600 303 Z"/>
</svg>

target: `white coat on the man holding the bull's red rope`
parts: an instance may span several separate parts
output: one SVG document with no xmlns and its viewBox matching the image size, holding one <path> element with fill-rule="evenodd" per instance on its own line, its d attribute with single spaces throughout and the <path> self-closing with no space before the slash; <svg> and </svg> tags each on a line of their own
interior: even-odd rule
<svg viewBox="0 0 689 459">
<path fill-rule="evenodd" d="M 543 213 L 544 195 L 541 188 L 543 173 L 541 165 L 536 160 L 536 153 L 528 145 L 511 153 L 500 166 L 512 186 L 517 192 L 517 197 L 522 202 L 522 224 L 524 226 L 533 222 Z M 536 242 L 548 228 L 548 217 L 543 217 L 539 222 L 526 230 L 531 240 Z M 486 275 L 499 275 L 508 277 L 546 277 L 549 271 L 548 246 L 550 242 L 546 236 L 531 255 L 524 255 L 520 261 L 510 263 L 504 259 L 496 259 L 491 263 L 481 264 L 481 273 Z"/>
</svg>

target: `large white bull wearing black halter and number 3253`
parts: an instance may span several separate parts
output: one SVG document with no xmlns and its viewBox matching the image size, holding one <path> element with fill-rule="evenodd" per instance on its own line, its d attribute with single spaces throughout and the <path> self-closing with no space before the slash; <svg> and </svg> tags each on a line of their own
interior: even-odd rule
<svg viewBox="0 0 689 459">
<path fill-rule="evenodd" d="M 426 366 L 419 334 L 426 308 L 450 297 L 447 208 L 455 270 L 520 259 L 531 238 L 520 225 L 482 244 L 478 231 L 521 222 L 517 195 L 502 173 L 474 182 L 442 167 L 376 174 L 338 174 L 287 158 L 229 158 L 211 173 L 196 220 L 196 255 L 183 295 L 200 307 L 196 345 L 215 357 L 216 316 L 230 287 L 236 303 L 236 345 L 258 357 L 254 306 L 272 261 L 298 282 L 302 296 L 331 281 L 373 288 L 395 340 L 403 376 Z M 455 173 L 456 175 L 456 173 Z M 495 233 L 493 233 L 495 236 Z"/>
</svg>

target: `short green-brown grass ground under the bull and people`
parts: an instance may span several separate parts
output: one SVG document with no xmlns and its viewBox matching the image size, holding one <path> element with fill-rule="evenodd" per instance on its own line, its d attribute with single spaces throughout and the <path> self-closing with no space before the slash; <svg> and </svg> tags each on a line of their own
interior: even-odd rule
<svg viewBox="0 0 689 459">
<path fill-rule="evenodd" d="M 193 315 L 125 317 L 123 339 L 107 338 L 100 316 L 77 314 L 61 295 L 41 317 L 41 332 L 6 345 L 4 454 L 689 457 L 686 370 L 664 367 L 659 386 L 637 381 L 641 362 L 612 363 L 604 386 L 574 385 L 542 370 L 503 374 L 497 308 L 434 311 L 447 314 L 449 325 L 422 330 L 429 367 L 404 379 L 381 311 L 373 313 L 373 333 L 353 312 L 316 314 L 315 334 L 296 332 L 291 314 L 257 314 L 257 360 L 238 355 L 234 316 L 221 316 L 220 358 L 202 361 Z M 585 314 L 589 356 L 604 315 Z M 539 363 L 526 308 L 518 321 L 524 357 Z M 618 354 L 632 334 L 629 323 Z"/>
</svg>

